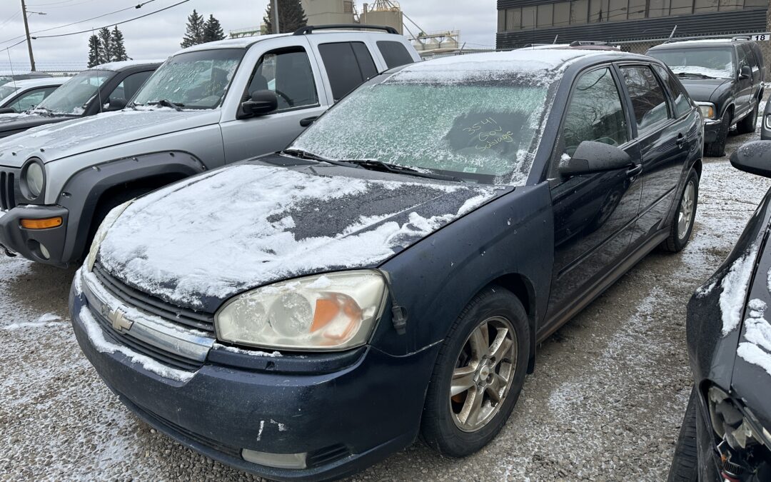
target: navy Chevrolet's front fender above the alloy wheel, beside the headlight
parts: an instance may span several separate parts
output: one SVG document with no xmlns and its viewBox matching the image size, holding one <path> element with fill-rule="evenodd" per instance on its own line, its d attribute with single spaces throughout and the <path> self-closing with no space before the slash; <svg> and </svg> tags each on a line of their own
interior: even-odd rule
<svg viewBox="0 0 771 482">
<path fill-rule="evenodd" d="M 534 342 L 554 264 L 550 203 L 545 182 L 517 187 L 386 261 L 381 268 L 391 276 L 396 300 L 408 310 L 407 334 L 395 335 L 384 319 L 374 344 L 403 354 L 442 341 L 474 295 L 506 275 L 519 275 L 532 288 Z"/>
</svg>

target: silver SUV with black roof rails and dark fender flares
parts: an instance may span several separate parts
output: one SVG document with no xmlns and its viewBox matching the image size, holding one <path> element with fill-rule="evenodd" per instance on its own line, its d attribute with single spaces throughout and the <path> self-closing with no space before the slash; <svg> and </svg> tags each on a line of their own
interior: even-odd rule
<svg viewBox="0 0 771 482">
<path fill-rule="evenodd" d="M 125 110 L 5 138 L 0 248 L 50 265 L 77 262 L 118 204 L 281 150 L 365 80 L 419 60 L 394 29 L 367 27 L 385 32 L 305 27 L 183 49 Z"/>
</svg>

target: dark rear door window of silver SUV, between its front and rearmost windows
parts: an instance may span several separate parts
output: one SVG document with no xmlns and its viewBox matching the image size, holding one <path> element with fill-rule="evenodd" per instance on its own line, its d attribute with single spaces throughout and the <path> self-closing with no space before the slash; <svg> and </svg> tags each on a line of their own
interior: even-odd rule
<svg viewBox="0 0 771 482">
<path fill-rule="evenodd" d="M 322 54 L 335 101 L 378 73 L 363 42 L 324 43 L 318 46 L 318 52 Z"/>
</svg>

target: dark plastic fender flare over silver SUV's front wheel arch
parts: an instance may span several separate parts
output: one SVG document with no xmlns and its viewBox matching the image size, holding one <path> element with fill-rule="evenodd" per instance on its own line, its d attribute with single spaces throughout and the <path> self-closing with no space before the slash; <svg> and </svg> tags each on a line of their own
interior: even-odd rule
<svg viewBox="0 0 771 482">
<path fill-rule="evenodd" d="M 140 180 L 189 177 L 204 170 L 207 167 L 193 154 L 171 150 L 109 160 L 72 174 L 57 200 L 69 211 L 62 261 L 76 261 L 85 250 L 99 199 L 107 190 Z"/>
</svg>

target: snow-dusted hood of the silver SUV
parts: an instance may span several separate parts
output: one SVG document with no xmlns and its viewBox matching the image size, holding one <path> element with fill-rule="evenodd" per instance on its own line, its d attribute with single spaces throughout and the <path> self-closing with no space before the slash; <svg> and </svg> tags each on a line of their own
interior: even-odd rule
<svg viewBox="0 0 771 482">
<path fill-rule="evenodd" d="M 34 155 L 44 163 L 74 154 L 217 123 L 219 110 L 121 110 L 39 126 L 0 142 L 0 164 L 21 167 Z M 2 124 L 0 124 L 2 129 Z"/>
</svg>

